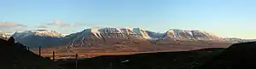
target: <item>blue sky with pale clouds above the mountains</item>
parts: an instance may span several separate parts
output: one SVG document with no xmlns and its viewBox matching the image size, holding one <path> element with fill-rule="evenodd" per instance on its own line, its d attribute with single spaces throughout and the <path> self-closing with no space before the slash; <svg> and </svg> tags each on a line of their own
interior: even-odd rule
<svg viewBox="0 0 256 69">
<path fill-rule="evenodd" d="M 0 31 L 95 27 L 202 30 L 219 37 L 256 38 L 254 0 L 1 0 Z"/>
</svg>

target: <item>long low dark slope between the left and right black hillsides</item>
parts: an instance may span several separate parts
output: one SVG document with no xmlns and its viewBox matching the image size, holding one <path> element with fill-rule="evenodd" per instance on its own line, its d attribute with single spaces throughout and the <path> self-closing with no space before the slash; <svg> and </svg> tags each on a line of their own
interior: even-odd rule
<svg viewBox="0 0 256 69">
<path fill-rule="evenodd" d="M 79 60 L 78 66 L 79 69 L 197 69 L 223 50 L 198 49 L 137 55 L 105 55 Z M 64 60 L 61 66 L 73 69 L 75 62 Z"/>
</svg>

